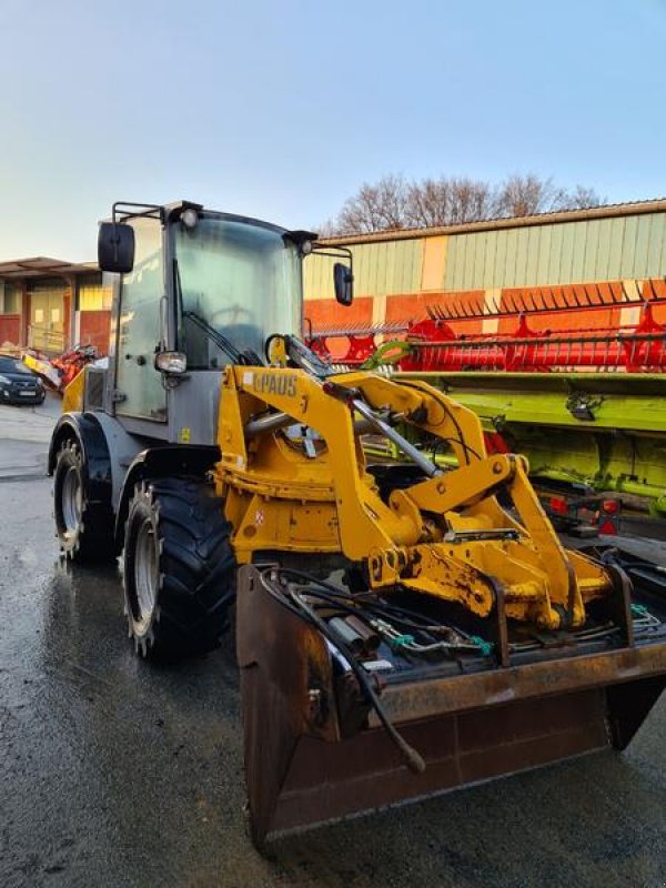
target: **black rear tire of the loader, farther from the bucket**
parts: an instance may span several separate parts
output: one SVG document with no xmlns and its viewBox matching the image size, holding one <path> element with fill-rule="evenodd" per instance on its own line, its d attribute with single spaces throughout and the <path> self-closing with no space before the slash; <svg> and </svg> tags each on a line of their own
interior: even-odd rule
<svg viewBox="0 0 666 888">
<path fill-rule="evenodd" d="M 72 485 L 78 485 L 80 501 L 77 515 L 68 508 Z M 56 457 L 53 472 L 53 516 L 62 554 L 79 564 L 101 564 L 115 557 L 113 514 L 108 504 L 90 503 L 81 446 L 67 438 Z"/>
</svg>

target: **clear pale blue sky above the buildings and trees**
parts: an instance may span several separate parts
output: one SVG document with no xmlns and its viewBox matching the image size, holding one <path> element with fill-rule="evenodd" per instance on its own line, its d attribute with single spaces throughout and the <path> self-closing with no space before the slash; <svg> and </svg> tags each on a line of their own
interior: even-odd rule
<svg viewBox="0 0 666 888">
<path fill-rule="evenodd" d="M 666 195 L 666 0 L 0 0 L 0 260 L 114 201 L 315 228 L 363 182 Z"/>
</svg>

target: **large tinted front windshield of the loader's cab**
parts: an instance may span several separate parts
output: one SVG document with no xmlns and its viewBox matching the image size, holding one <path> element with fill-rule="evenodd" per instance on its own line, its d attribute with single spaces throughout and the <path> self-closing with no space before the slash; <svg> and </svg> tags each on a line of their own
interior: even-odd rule
<svg viewBox="0 0 666 888">
<path fill-rule="evenodd" d="M 230 363 L 224 341 L 261 356 L 272 333 L 300 332 L 301 262 L 280 231 L 205 214 L 174 229 L 178 347 L 189 369 Z"/>
</svg>

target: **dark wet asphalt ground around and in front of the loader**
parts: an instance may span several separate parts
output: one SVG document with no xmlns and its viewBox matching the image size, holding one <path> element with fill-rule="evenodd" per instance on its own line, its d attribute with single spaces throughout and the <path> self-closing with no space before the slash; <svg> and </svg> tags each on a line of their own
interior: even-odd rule
<svg viewBox="0 0 666 888">
<path fill-rule="evenodd" d="M 58 557 L 54 402 L 0 406 L 0 888 L 666 886 L 666 699 L 604 753 L 276 842 L 244 829 L 226 648 L 141 663 L 119 577 Z"/>
</svg>

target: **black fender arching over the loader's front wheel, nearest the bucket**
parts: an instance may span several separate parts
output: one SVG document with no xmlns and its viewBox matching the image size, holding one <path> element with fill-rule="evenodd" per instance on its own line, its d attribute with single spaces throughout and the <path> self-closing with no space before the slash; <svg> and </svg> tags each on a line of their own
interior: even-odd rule
<svg viewBox="0 0 666 888">
<path fill-rule="evenodd" d="M 122 548 L 124 525 L 134 485 L 143 478 L 194 475 L 202 477 L 222 457 L 218 445 L 165 444 L 137 454 L 125 475 L 115 515 L 115 546 Z"/>
</svg>

